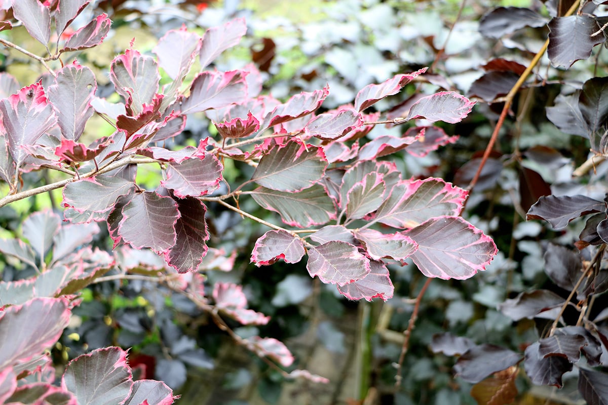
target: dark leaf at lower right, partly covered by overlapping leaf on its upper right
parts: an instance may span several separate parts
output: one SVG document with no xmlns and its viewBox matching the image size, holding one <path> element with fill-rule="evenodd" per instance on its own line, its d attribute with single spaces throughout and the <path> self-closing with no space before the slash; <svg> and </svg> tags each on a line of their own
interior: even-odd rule
<svg viewBox="0 0 608 405">
<path fill-rule="evenodd" d="M 562 375 L 572 370 L 572 363 L 560 356 L 543 357 L 539 353 L 539 342 L 534 342 L 525 350 L 523 363 L 526 374 L 533 384 L 562 387 Z"/>
</svg>

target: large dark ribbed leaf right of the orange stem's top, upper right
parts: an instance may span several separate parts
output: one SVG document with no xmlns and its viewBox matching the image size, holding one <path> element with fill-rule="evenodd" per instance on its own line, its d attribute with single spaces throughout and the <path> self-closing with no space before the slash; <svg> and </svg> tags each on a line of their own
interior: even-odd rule
<svg viewBox="0 0 608 405">
<path fill-rule="evenodd" d="M 547 55 L 556 67 L 568 69 L 576 61 L 589 58 L 593 47 L 606 40 L 603 35 L 592 36 L 600 26 L 595 18 L 586 15 L 554 17 L 547 26 L 550 30 Z"/>
</svg>

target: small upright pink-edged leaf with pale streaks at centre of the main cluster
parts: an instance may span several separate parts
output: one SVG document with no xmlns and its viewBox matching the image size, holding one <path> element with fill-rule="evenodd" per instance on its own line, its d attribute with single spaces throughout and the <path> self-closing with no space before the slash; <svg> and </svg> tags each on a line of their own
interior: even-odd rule
<svg viewBox="0 0 608 405">
<path fill-rule="evenodd" d="M 356 183 L 347 193 L 344 210 L 347 219 L 361 219 L 376 211 L 384 202 L 385 184 L 382 175 L 371 172 Z"/>
</svg>

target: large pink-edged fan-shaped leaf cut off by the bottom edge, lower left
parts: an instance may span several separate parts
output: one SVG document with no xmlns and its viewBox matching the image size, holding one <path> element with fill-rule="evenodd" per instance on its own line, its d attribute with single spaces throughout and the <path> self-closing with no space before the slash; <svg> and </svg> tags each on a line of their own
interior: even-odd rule
<svg viewBox="0 0 608 405">
<path fill-rule="evenodd" d="M 131 367 L 120 347 L 106 347 L 80 355 L 67 364 L 61 387 L 73 392 L 79 404 L 123 404 L 131 395 Z"/>
</svg>

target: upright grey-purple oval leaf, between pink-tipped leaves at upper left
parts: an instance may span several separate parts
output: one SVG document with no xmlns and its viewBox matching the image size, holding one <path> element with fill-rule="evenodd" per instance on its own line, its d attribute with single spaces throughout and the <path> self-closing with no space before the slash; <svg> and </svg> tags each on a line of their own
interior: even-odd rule
<svg viewBox="0 0 608 405">
<path fill-rule="evenodd" d="M 91 101 L 96 89 L 95 75 L 88 67 L 72 63 L 57 72 L 48 93 L 64 138 L 77 141 L 85 131 L 94 112 Z"/>
</svg>

